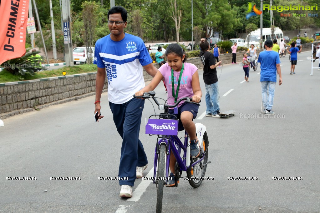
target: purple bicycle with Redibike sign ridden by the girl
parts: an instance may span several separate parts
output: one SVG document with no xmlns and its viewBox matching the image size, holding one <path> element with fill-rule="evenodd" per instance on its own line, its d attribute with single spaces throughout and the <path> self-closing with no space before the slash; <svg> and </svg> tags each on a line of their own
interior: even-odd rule
<svg viewBox="0 0 320 213">
<path fill-rule="evenodd" d="M 200 155 L 196 158 L 190 157 L 190 146 L 188 145 L 188 133 L 185 131 L 183 141 L 180 141 L 178 135 L 178 119 L 175 115 L 168 114 L 169 107 L 177 106 L 181 101 L 188 103 L 192 102 L 192 98 L 181 98 L 174 105 L 168 105 L 166 102 L 160 104 L 155 97 L 156 93 L 150 91 L 144 93 L 143 96 L 135 96 L 137 98 L 152 98 L 158 105 L 159 110 L 164 110 L 164 113 L 151 115 L 146 124 L 146 134 L 157 135 L 156 150 L 154 159 L 154 174 L 153 183 L 156 184 L 157 189 L 157 204 L 156 212 L 162 211 L 162 197 L 163 187 L 168 182 L 169 162 L 171 151 L 176 158 L 175 164 L 175 178 L 176 187 L 178 179 L 182 172 L 187 172 L 189 184 L 196 188 L 201 185 L 204 177 L 208 161 L 209 139 L 206 132 L 206 127 L 202 124 L 196 124 L 196 135 L 200 142 Z M 195 103 L 198 104 L 198 103 Z M 198 104 L 200 105 L 200 104 Z M 152 118 L 155 119 L 152 119 Z"/>
</svg>

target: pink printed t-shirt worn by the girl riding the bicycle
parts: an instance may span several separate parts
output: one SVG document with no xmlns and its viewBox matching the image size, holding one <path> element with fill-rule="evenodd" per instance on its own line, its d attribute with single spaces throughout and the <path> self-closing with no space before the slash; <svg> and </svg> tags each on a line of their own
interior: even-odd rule
<svg viewBox="0 0 320 213">
<path fill-rule="evenodd" d="M 197 70 L 198 68 L 196 67 L 196 65 L 184 63 L 184 69 L 181 76 L 178 98 L 192 97 L 194 95 L 192 90 L 191 80 L 192 80 L 193 74 Z M 159 68 L 159 71 L 164 77 L 164 83 L 167 87 L 168 97 L 171 97 L 167 101 L 168 105 L 173 105 L 174 98 L 172 98 L 171 67 L 168 65 L 168 63 L 165 63 Z M 174 93 L 176 94 L 180 72 L 173 71 L 173 76 L 174 76 Z M 179 99 L 177 99 L 177 101 L 178 100 Z M 178 107 L 181 106 L 183 103 L 184 103 L 183 101 L 180 102 Z"/>
</svg>

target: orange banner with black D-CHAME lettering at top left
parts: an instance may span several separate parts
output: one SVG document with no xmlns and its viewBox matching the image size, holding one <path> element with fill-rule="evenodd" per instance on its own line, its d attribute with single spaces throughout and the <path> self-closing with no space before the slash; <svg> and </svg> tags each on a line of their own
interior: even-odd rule
<svg viewBox="0 0 320 213">
<path fill-rule="evenodd" d="M 0 5 L 0 65 L 26 52 L 29 0 L 5 0 Z"/>
</svg>

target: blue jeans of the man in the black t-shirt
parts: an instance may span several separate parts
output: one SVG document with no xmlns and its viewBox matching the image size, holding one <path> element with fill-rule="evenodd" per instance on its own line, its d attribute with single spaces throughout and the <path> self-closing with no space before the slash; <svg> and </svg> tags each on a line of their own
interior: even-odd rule
<svg viewBox="0 0 320 213">
<path fill-rule="evenodd" d="M 219 86 L 218 82 L 214 84 L 206 84 L 205 85 L 205 103 L 207 105 L 206 114 L 219 114 L 220 113 L 220 105 L 219 105 Z"/>
</svg>

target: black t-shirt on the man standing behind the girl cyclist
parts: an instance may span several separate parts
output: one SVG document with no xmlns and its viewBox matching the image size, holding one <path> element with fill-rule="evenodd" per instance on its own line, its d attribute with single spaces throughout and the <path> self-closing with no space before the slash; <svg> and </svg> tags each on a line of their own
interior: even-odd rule
<svg viewBox="0 0 320 213">
<path fill-rule="evenodd" d="M 217 70 L 214 68 L 210 69 L 211 65 L 215 65 L 212 52 L 204 51 L 200 53 L 200 59 L 203 66 L 203 80 L 205 84 L 214 84 L 218 82 Z"/>
</svg>

